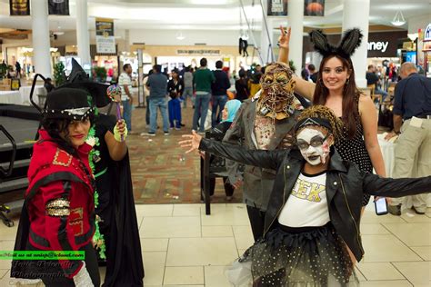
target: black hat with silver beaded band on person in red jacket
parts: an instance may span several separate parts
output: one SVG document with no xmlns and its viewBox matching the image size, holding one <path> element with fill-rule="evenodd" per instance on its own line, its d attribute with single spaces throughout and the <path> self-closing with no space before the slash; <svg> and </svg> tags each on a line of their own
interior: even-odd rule
<svg viewBox="0 0 431 287">
<path fill-rule="evenodd" d="M 45 118 L 82 121 L 94 113 L 88 103 L 88 92 L 83 89 L 59 87 L 46 95 Z"/>
</svg>

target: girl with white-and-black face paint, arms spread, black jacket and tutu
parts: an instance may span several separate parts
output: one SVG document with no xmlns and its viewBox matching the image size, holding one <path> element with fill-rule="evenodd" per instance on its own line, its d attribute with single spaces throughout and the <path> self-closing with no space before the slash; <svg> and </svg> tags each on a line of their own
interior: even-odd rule
<svg viewBox="0 0 431 287">
<path fill-rule="evenodd" d="M 199 149 L 276 170 L 264 235 L 226 270 L 230 282 L 241 286 L 250 282 L 259 286 L 357 286 L 347 247 L 358 262 L 363 258 L 359 224 L 363 194 L 429 193 L 431 176 L 382 178 L 342 160 L 334 147 L 342 128 L 329 108 L 315 105 L 298 117 L 298 149 L 246 150 L 195 133 L 183 135 L 180 145 L 188 149 L 186 153 Z M 248 277 L 235 277 L 246 270 Z"/>
</svg>

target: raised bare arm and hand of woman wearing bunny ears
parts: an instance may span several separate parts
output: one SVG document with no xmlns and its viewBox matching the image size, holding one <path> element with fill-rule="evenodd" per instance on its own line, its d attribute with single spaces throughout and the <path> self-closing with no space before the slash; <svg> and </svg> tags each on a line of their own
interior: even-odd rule
<svg viewBox="0 0 431 287">
<path fill-rule="evenodd" d="M 278 46 L 280 48 L 278 51 L 278 62 L 289 64 L 289 42 L 291 30 L 289 27 L 288 31 L 286 32 L 283 26 L 280 26 L 280 31 L 281 35 L 278 38 Z M 308 82 L 296 75 L 294 75 L 294 77 L 296 81 L 295 92 L 313 102 L 316 84 Z"/>
</svg>

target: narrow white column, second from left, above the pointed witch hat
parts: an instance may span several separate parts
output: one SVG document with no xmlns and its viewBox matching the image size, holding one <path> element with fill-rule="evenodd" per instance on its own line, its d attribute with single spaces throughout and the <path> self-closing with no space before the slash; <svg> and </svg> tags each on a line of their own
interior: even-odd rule
<svg viewBox="0 0 431 287">
<path fill-rule="evenodd" d="M 76 1 L 76 44 L 81 65 L 91 66 L 90 34 L 88 33 L 87 0 Z"/>
</svg>

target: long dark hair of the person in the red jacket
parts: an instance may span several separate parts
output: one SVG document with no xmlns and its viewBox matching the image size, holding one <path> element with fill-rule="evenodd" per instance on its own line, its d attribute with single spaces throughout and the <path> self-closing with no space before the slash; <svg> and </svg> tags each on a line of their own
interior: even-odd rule
<svg viewBox="0 0 431 287">
<path fill-rule="evenodd" d="M 95 117 L 94 115 L 90 115 L 88 117 L 90 120 L 91 125 L 93 125 Z M 54 143 L 57 143 L 58 146 L 65 150 L 66 153 L 75 154 L 76 150 L 75 147 L 72 145 L 72 143 L 69 140 L 69 124 L 72 123 L 72 120 L 70 119 L 53 119 L 49 117 L 44 117 L 42 119 L 42 126 L 44 127 L 45 131 L 49 134 L 52 141 Z M 65 134 L 65 138 L 63 138 L 60 134 Z"/>
</svg>

